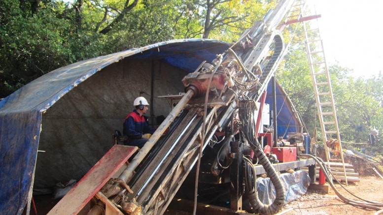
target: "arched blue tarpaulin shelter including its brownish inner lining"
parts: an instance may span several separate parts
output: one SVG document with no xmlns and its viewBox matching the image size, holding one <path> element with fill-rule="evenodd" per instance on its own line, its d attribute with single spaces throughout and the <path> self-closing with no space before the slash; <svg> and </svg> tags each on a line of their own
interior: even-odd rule
<svg viewBox="0 0 383 215">
<path fill-rule="evenodd" d="M 149 100 L 156 126 L 170 109 L 158 96 L 183 92 L 182 77 L 228 47 L 206 39 L 156 43 L 72 63 L 2 99 L 0 214 L 21 214 L 33 190 L 85 175 L 112 146 L 137 96 Z"/>
</svg>

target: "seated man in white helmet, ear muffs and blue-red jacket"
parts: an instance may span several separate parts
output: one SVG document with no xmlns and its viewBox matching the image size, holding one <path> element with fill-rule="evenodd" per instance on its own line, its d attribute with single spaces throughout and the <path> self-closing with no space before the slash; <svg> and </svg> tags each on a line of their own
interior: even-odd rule
<svg viewBox="0 0 383 215">
<path fill-rule="evenodd" d="M 124 144 L 142 148 L 154 132 L 149 127 L 147 118 L 143 116 L 149 109 L 149 103 L 144 97 L 140 96 L 134 100 L 133 105 L 136 109 L 128 114 L 124 121 L 123 134 L 128 136 Z"/>
</svg>

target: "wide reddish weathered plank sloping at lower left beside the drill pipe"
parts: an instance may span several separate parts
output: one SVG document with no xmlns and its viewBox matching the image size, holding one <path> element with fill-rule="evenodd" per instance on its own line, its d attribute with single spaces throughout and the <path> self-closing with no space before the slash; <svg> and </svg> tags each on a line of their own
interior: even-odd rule
<svg viewBox="0 0 383 215">
<path fill-rule="evenodd" d="M 74 215 L 80 212 L 137 149 L 138 147 L 114 145 L 48 215 Z"/>
</svg>

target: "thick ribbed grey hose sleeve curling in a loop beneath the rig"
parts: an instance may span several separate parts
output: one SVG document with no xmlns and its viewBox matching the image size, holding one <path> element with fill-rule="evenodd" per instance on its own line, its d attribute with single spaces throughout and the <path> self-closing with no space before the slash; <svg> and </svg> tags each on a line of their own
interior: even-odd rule
<svg viewBox="0 0 383 215">
<path fill-rule="evenodd" d="M 252 207 L 251 212 L 252 213 L 258 212 L 260 214 L 265 214 L 265 215 L 275 214 L 283 207 L 285 197 L 286 197 L 282 181 L 280 180 L 277 171 L 274 169 L 269 159 L 266 157 L 266 154 L 261 149 L 253 146 L 252 144 L 251 144 L 251 148 L 253 149 L 255 156 L 257 156 L 259 163 L 262 164 L 266 173 L 269 175 L 270 180 L 274 184 L 274 187 L 276 190 L 276 198 L 274 202 L 270 205 L 265 205 L 258 198 L 257 187 L 254 182 L 252 189 L 248 188 L 248 192 L 249 192 L 248 199 Z M 253 176 L 256 176 L 254 167 L 251 168 L 251 171 Z"/>
</svg>

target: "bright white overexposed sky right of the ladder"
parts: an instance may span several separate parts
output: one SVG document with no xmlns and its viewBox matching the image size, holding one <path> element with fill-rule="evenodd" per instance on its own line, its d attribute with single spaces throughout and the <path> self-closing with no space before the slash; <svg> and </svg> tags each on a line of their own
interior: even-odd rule
<svg viewBox="0 0 383 215">
<path fill-rule="evenodd" d="M 308 0 L 315 5 L 328 65 L 354 77 L 383 72 L 383 0 Z"/>
</svg>

